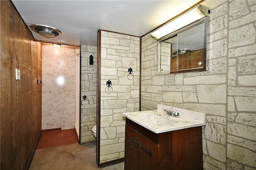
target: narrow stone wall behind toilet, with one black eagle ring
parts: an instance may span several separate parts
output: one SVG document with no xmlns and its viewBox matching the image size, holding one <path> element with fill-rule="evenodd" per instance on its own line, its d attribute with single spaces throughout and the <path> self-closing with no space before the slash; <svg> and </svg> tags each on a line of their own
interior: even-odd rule
<svg viewBox="0 0 256 170">
<path fill-rule="evenodd" d="M 81 100 L 85 95 L 87 101 L 81 105 L 81 134 L 80 143 L 94 141 L 92 128 L 96 125 L 96 98 L 97 98 L 97 47 L 81 45 Z M 90 65 L 90 55 L 93 56 L 93 65 Z"/>
</svg>

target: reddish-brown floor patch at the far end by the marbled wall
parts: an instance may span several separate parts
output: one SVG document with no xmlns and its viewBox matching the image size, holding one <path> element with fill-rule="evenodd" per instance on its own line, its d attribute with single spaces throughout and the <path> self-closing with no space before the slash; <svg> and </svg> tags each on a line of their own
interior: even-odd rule
<svg viewBox="0 0 256 170">
<path fill-rule="evenodd" d="M 75 143 L 78 143 L 78 138 L 74 129 L 61 130 L 61 128 L 58 128 L 43 130 L 36 149 L 52 148 Z"/>
</svg>

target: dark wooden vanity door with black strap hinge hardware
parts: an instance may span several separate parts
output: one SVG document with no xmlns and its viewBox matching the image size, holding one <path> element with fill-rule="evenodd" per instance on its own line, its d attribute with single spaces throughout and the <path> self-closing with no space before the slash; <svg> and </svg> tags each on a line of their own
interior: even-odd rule
<svg viewBox="0 0 256 170">
<path fill-rule="evenodd" d="M 125 170 L 160 170 L 159 145 L 126 124 Z"/>
</svg>

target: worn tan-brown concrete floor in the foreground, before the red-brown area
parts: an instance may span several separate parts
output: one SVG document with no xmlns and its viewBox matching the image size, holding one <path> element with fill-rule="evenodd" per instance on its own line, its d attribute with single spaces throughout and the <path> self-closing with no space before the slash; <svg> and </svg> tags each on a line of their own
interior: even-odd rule
<svg viewBox="0 0 256 170">
<path fill-rule="evenodd" d="M 29 170 L 124 170 L 124 162 L 98 168 L 96 142 L 36 150 Z"/>
</svg>

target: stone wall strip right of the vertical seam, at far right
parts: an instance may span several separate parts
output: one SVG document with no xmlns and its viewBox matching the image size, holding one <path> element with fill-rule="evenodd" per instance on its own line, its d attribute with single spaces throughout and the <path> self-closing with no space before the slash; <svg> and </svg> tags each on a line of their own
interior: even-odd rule
<svg viewBox="0 0 256 170">
<path fill-rule="evenodd" d="M 256 0 L 224 6 L 229 7 L 227 170 L 255 170 Z"/>
</svg>

